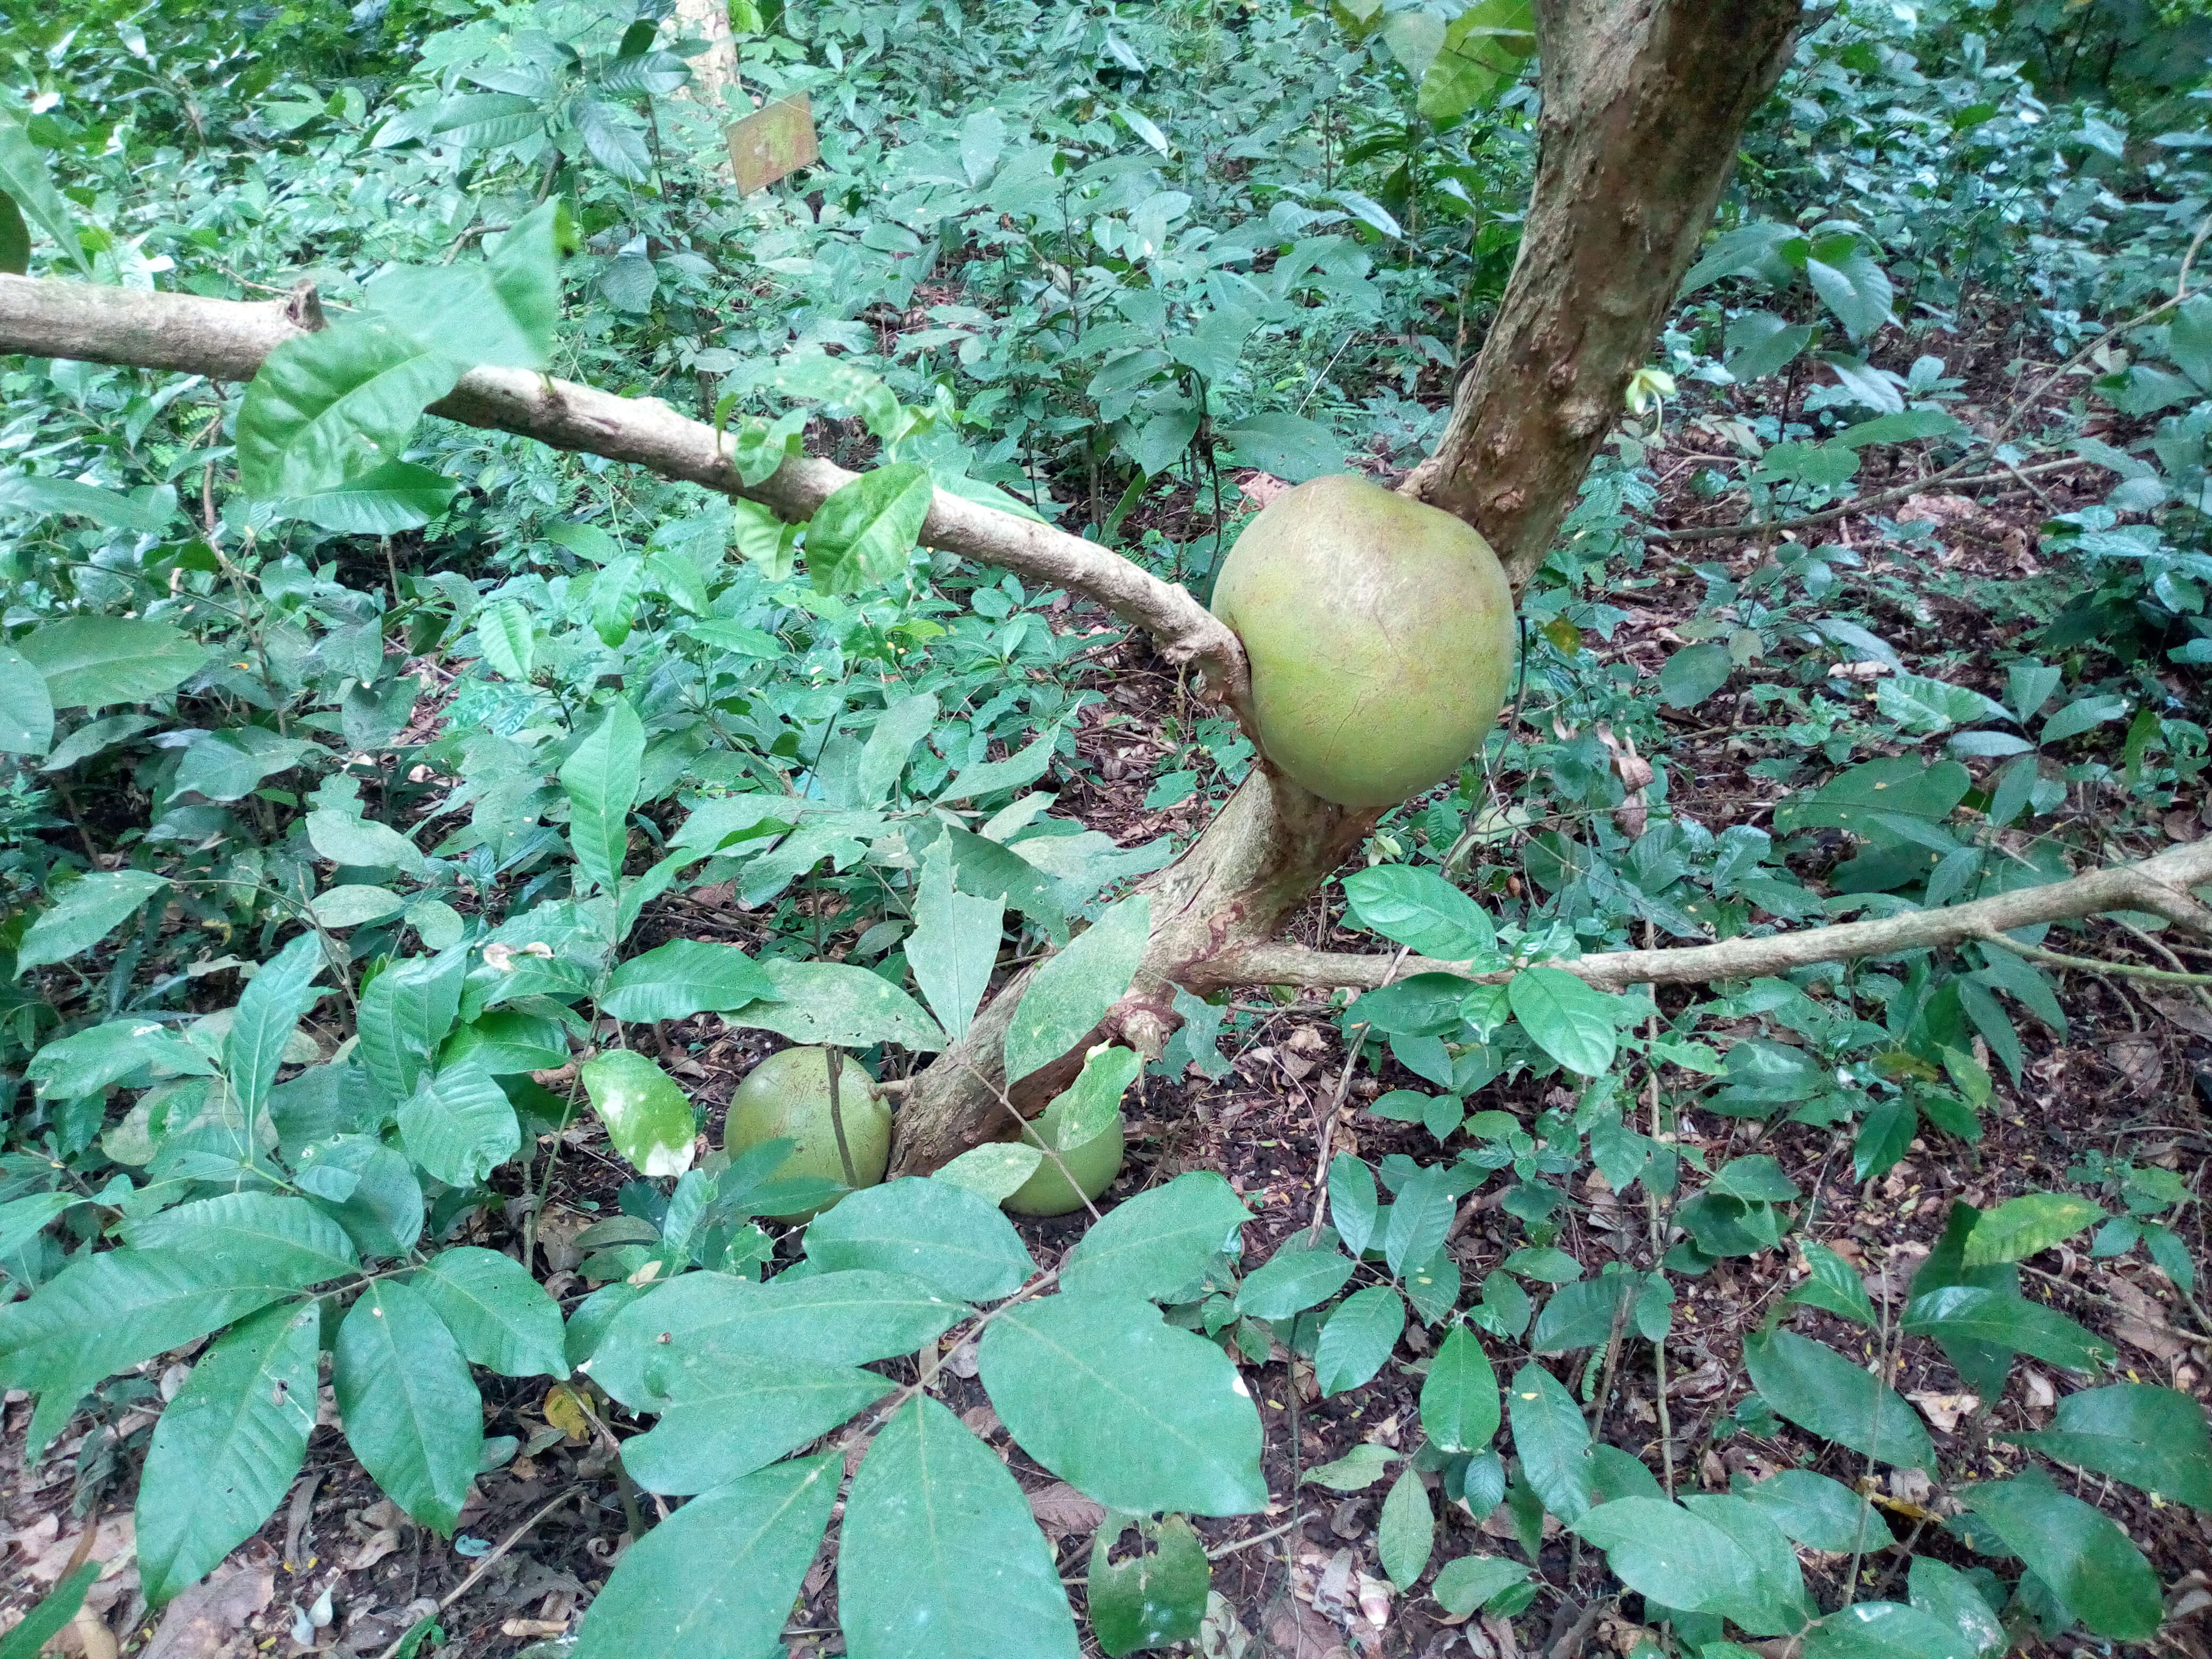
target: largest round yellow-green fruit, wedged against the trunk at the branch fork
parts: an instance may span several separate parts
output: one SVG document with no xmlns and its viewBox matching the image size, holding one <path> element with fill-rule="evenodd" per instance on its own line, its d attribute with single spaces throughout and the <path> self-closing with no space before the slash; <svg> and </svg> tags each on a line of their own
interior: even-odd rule
<svg viewBox="0 0 2212 1659">
<path fill-rule="evenodd" d="M 1513 588 L 1491 544 L 1365 478 L 1276 495 L 1221 562 L 1214 615 L 1252 661 L 1261 750 L 1345 807 L 1449 779 L 1513 684 Z"/>
</svg>

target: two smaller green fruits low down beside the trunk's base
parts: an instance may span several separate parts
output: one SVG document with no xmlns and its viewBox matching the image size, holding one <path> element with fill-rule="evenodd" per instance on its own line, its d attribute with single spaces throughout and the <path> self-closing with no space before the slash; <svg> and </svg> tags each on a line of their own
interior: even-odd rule
<svg viewBox="0 0 2212 1659">
<path fill-rule="evenodd" d="M 845 1150 L 852 1152 L 852 1172 L 858 1186 L 878 1186 L 891 1166 L 891 1108 L 885 1104 L 869 1077 L 852 1055 L 838 1055 L 838 1117 L 845 1124 Z M 1031 1144 L 1051 1146 L 1060 1133 L 1062 1095 L 1044 1115 L 1029 1126 Z M 827 1048 L 783 1048 L 772 1053 L 737 1086 L 730 1097 L 730 1115 L 723 1121 L 721 1144 L 728 1152 L 743 1152 L 761 1141 L 794 1139 L 799 1146 L 776 1170 L 779 1179 L 821 1177 L 825 1181 L 845 1179 L 845 1159 L 836 1146 L 836 1124 L 830 1119 L 830 1051 Z M 1040 1139 L 1042 1137 L 1042 1139 Z M 1095 1135 L 1082 1146 L 1068 1148 L 1060 1161 L 1068 1166 L 1075 1186 L 1051 1159 L 1037 1166 L 1004 1203 L 1015 1214 L 1068 1214 L 1095 1199 L 1115 1175 L 1121 1172 L 1121 1119 L 1113 1128 Z M 1077 1192 L 1077 1188 L 1082 1188 Z M 827 1206 L 825 1206 L 827 1208 Z M 774 1221 L 812 1221 L 816 1210 L 772 1217 Z"/>
</svg>

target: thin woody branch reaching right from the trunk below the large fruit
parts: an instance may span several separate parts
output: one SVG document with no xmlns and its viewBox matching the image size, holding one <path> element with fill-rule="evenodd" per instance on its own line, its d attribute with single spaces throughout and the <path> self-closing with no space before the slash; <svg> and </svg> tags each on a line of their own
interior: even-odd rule
<svg viewBox="0 0 2212 1659">
<path fill-rule="evenodd" d="M 1902 951 L 1940 949 L 1989 940 L 2042 922 L 2070 922 L 2115 909 L 2152 911 L 2172 922 L 2212 933 L 2212 909 L 2205 909 L 2192 887 L 2212 883 L 2212 838 L 2172 847 L 2135 865 L 2093 869 L 2073 880 L 2046 887 L 2017 887 L 1971 905 L 1889 916 L 1878 922 L 1840 922 L 1836 927 L 1803 927 L 1763 938 L 1732 938 L 1719 945 L 1686 945 L 1668 951 L 1606 951 L 1575 962 L 1551 962 L 1601 991 L 1630 984 L 1714 984 L 1721 980 L 1754 980 L 1790 973 L 1818 962 L 1843 962 L 1858 956 L 1898 956 Z M 1363 956 L 1358 951 L 1310 951 L 1303 945 L 1261 942 L 1188 964 L 1183 984 L 1192 991 L 1223 991 L 1237 984 L 1310 984 L 1371 991 L 1387 980 L 1411 973 L 1464 973 L 1464 962 L 1436 962 L 1425 956 Z M 1502 980 L 1504 973 L 1471 975 Z"/>
</svg>

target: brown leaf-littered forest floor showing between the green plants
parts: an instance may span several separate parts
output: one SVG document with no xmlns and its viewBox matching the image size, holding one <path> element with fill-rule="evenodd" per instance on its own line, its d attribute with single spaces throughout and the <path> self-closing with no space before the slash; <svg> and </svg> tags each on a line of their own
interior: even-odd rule
<svg viewBox="0 0 2212 1659">
<path fill-rule="evenodd" d="M 1692 511 L 1688 491 L 1681 489 L 1690 462 L 1677 465 L 1661 456 L 1659 467 L 1670 484 L 1661 520 L 1679 522 L 1679 513 Z M 2053 482 L 2051 489 L 2062 491 L 2064 484 Z M 2000 493 L 1989 507 L 1942 498 L 1938 564 L 1951 575 L 1982 582 L 2033 575 L 2039 568 L 2035 524 L 2042 515 L 2044 507 L 2026 489 Z M 1922 553 L 1887 564 L 1871 520 L 1847 520 L 1832 533 L 1838 540 L 1856 538 L 1856 551 L 1867 560 L 1867 584 L 1893 580 L 1916 586 L 1911 562 L 1922 560 Z M 1628 624 L 1615 641 L 1590 637 L 1588 646 L 1601 657 L 1628 659 L 1655 675 L 1672 644 L 1670 628 L 1686 622 L 1701 597 L 1703 584 L 1690 566 L 1721 560 L 1747 568 L 1759 557 L 1761 549 L 1732 542 L 1705 542 L 1679 553 L 1655 546 L 1646 575 L 1657 580 L 1632 595 Z M 1916 653 L 1960 648 L 1964 608 L 1971 606 L 1940 595 L 1931 595 L 1918 615 L 1898 608 L 1889 639 L 1907 668 L 1916 666 Z M 1086 617 L 1082 608 L 1064 617 L 1071 628 L 1095 624 L 1097 617 Z M 1982 639 L 1978 664 L 1993 684 L 1997 675 L 1991 650 L 2002 644 L 2002 628 L 1980 613 L 1971 626 Z M 1955 659 L 1947 664 L 1947 677 L 1975 681 L 1971 666 L 1960 670 Z M 1104 701 L 1086 710 L 1079 728 L 1084 765 L 1064 779 L 1057 812 L 1075 814 L 1124 843 L 1194 830 L 1206 810 L 1203 796 L 1164 812 L 1144 805 L 1152 776 L 1177 750 L 1164 737 L 1166 721 L 1175 717 L 1177 728 L 1188 730 L 1194 712 L 1181 679 L 1148 657 L 1141 641 L 1126 641 L 1093 659 L 1086 684 Z M 1670 803 L 1712 825 L 1756 823 L 1770 810 L 1776 787 L 1745 770 L 1759 757 L 1756 739 L 1745 732 L 1756 723 L 1752 706 L 1736 701 L 1732 717 L 1725 714 L 1728 706 L 1725 697 L 1714 699 L 1694 719 L 1681 721 L 1681 737 L 1666 754 L 1674 781 Z M 1102 710 L 1113 710 L 1119 719 L 1102 723 Z M 2170 814 L 2168 834 L 2194 838 L 2203 834 L 2203 823 L 2188 812 Z M 714 938 L 743 938 L 748 927 L 748 918 L 737 911 L 719 911 L 708 922 L 699 896 L 668 900 L 659 920 L 670 936 L 710 931 Z M 1363 945 L 1358 936 L 1334 929 L 1318 905 L 1294 931 L 1307 942 L 1336 949 Z M 2115 956 L 2128 956 L 2137 942 L 2115 931 L 2110 940 L 2093 940 L 2088 949 L 2106 945 L 2112 945 Z M 2201 1197 L 2212 1155 L 2203 1106 L 2212 1099 L 2212 1004 L 2143 993 L 2126 980 L 2084 973 L 2064 975 L 2062 1000 L 2070 1020 L 2066 1040 L 2033 1024 L 2022 1033 L 2028 1064 L 2017 1084 L 1997 1073 L 1980 1146 L 1913 1141 L 1902 1164 L 1865 1188 L 1851 1181 L 1849 1144 L 1832 1128 L 1778 1124 L 1765 1133 L 1759 1124 L 1701 1113 L 1686 1099 L 1677 1135 L 1712 1166 L 1759 1139 L 1761 1150 L 1781 1159 L 1809 1194 L 1801 1230 L 1858 1265 L 1876 1307 L 1893 1316 L 1902 1307 L 1913 1265 L 1936 1243 L 1955 1199 L 1991 1206 L 2026 1188 L 2075 1186 L 2066 1172 L 2088 1148 L 2177 1168 Z M 1245 1228 L 1245 1259 L 1256 1263 L 1314 1223 L 1323 1141 L 1327 1152 L 1360 1152 L 1371 1161 L 1387 1152 L 1433 1157 L 1436 1146 L 1420 1126 L 1365 1110 L 1380 1091 L 1418 1079 L 1398 1073 L 1389 1060 L 1345 1079 L 1338 1022 L 1323 998 L 1305 995 L 1287 1004 L 1256 1000 L 1241 1004 L 1241 1013 L 1248 1018 L 1223 1033 L 1232 1057 L 1225 1075 L 1206 1079 L 1192 1071 L 1181 1079 L 1144 1082 L 1141 1097 L 1130 1108 L 1128 1166 L 1106 1203 L 1186 1170 L 1219 1170 L 1254 1214 Z M 723 1102 L 739 1077 L 781 1040 L 728 1029 L 712 1015 L 661 1035 L 672 1071 L 697 1099 L 710 1104 L 710 1135 L 719 1144 Z M 1652 1091 L 1659 1086 L 1657 1079 L 1650 1082 Z M 1493 1084 L 1471 1104 L 1531 1117 L 1546 1104 L 1559 1104 L 1553 1095 L 1553 1084 L 1522 1079 Z M 615 1190 L 628 1179 L 628 1170 L 604 1150 L 595 1126 L 577 1126 L 564 1141 L 564 1166 L 540 1223 L 540 1243 L 544 1270 L 553 1274 L 551 1287 L 573 1303 L 588 1287 L 575 1276 L 577 1252 L 568 1241 L 588 1221 L 613 1210 Z M 1652 1221 L 1641 1192 L 1624 1201 L 1590 1175 L 1573 1197 L 1577 1208 L 1562 1245 L 1586 1270 L 1595 1272 L 1608 1261 L 1637 1270 L 1652 1265 Z M 1451 1250 L 1469 1285 L 1480 1283 L 1517 1243 L 1517 1228 L 1493 1206 L 1495 1192 L 1478 1190 L 1453 1232 Z M 484 1217 L 478 1223 L 480 1241 L 504 1243 L 518 1221 L 518 1206 L 509 1206 L 507 1214 Z M 2179 1225 L 2194 1259 L 2212 1265 L 2203 1203 L 2183 1208 Z M 1051 1265 L 1079 1234 L 1079 1225 L 1024 1221 L 1022 1232 L 1037 1261 Z M 792 1254 L 792 1245 L 785 1245 L 785 1254 Z M 1790 1252 L 1781 1250 L 1723 1261 L 1705 1279 L 1681 1281 L 1674 1329 L 1666 1338 L 1663 1394 L 1652 1347 L 1624 1343 L 1597 1407 L 1599 1433 L 1655 1471 L 1670 1471 L 1674 1486 L 1683 1491 L 1725 1491 L 1732 1475 L 1759 1478 L 1787 1467 L 1812 1467 L 1860 1484 L 1867 1469 L 1840 1447 L 1772 1420 L 1752 1425 L 1772 1433 L 1752 1433 L 1732 1416 L 1747 1391 L 1741 1340 L 1790 1287 L 1792 1276 Z M 2119 1349 L 2124 1378 L 2168 1383 L 2205 1398 L 2212 1321 L 2203 1301 L 2179 1292 L 2139 1252 L 2099 1261 L 2075 1250 L 2051 1250 L 2026 1263 L 2024 1287 L 2110 1338 Z M 1801 1310 L 1796 1318 L 1832 1343 L 1854 1343 L 1854 1334 L 1825 1314 Z M 1637 1644 L 1641 1632 L 1613 1606 L 1579 1630 L 1571 1628 L 1575 1606 L 1601 1584 L 1601 1564 L 1571 1548 L 1566 1537 L 1546 1544 L 1542 1571 L 1548 1593 L 1528 1613 L 1515 1621 L 1455 1621 L 1425 1593 L 1400 1597 L 1383 1577 L 1376 1557 L 1380 1482 L 1354 1493 L 1298 1484 L 1301 1471 L 1340 1458 L 1356 1442 L 1413 1444 L 1418 1365 L 1429 1343 L 1418 1325 L 1409 1327 L 1398 1358 L 1369 1387 L 1329 1400 L 1316 1396 L 1310 1365 L 1285 1365 L 1281 1349 L 1272 1363 L 1248 1367 L 1267 1427 L 1274 1502 L 1263 1515 L 1199 1524 L 1217 1557 L 1214 1588 L 1221 1593 L 1201 1652 L 1221 1659 L 1571 1659 L 1626 1655 Z M 2017 1473 L 2022 1453 L 1993 1436 L 2046 1425 L 2064 1380 L 2024 1363 L 2004 1398 L 1975 1402 L 1958 1394 L 1958 1378 L 1940 1363 L 1929 1363 L 1931 1356 L 1927 1343 L 1905 1345 L 1896 1385 L 1929 1420 L 1949 1478 L 1966 1482 Z M 1517 1354 L 1500 1352 L 1502 1371 L 1517 1363 Z M 1060 1548 L 1071 1593 L 1079 1597 L 1091 1533 L 1104 1511 L 1035 1467 L 998 1429 L 991 1405 L 973 1380 L 971 1352 L 953 1349 L 938 1376 L 945 1402 L 989 1438 L 1029 1489 L 1040 1522 Z M 15 1559 L 27 1564 L 15 1584 L 7 1586 L 9 1599 L 35 1595 L 69 1566 L 82 1531 L 82 1509 L 71 1513 L 71 1502 L 88 1491 L 102 1517 L 93 1555 L 115 1562 L 115 1571 L 95 1586 L 91 1608 L 131 1617 L 137 1582 L 128 1566 L 128 1475 L 117 1469 L 108 1482 L 80 1482 L 73 1453 L 82 1436 L 64 1438 L 42 1464 L 24 1471 L 27 1407 L 15 1396 L 9 1398 L 0 1458 L 15 1473 L 0 1495 L 0 1535 L 20 1546 Z M 515 1655 L 573 1635 L 577 1615 L 624 1546 L 628 1511 L 641 1504 L 650 1515 L 657 1500 L 619 1484 L 606 1427 L 595 1429 L 575 1418 L 549 1420 L 562 1413 L 557 1400 L 549 1409 L 542 1380 L 487 1378 L 487 1436 L 513 1436 L 524 1453 L 478 1480 L 478 1498 L 453 1542 L 409 1524 L 374 1491 L 338 1431 L 321 1429 L 292 1500 L 263 1533 L 208 1584 L 179 1597 L 166 1617 L 146 1617 L 144 1601 L 137 1599 L 139 1624 L 133 1626 L 126 1650 L 148 1659 L 243 1652 L 281 1659 L 305 1650 L 385 1659 L 400 1632 L 431 1608 L 440 1610 L 449 1644 L 438 1650 L 471 1659 Z M 325 1422 L 330 1420 L 325 1387 Z M 82 1429 L 82 1420 L 77 1427 Z M 128 1431 L 131 1425 L 117 1427 Z M 1661 1444 L 1663 1429 L 1670 1431 L 1668 1444 Z M 2075 1482 L 2084 1484 L 2079 1478 Z M 1971 1564 L 1971 1553 L 1940 1526 L 1955 1502 L 1931 1493 L 1924 1475 L 1891 1471 L 1867 1491 L 1876 1495 L 1878 1513 L 1893 1535 L 1869 1540 L 1860 1599 L 1898 1590 L 1905 1553 L 1893 1544 L 1909 1542 L 1922 1553 Z M 2170 1608 L 2183 1615 L 2168 1624 L 2157 1650 L 2212 1657 L 2212 1517 L 2157 1504 L 2130 1489 L 2086 1495 L 2128 1526 L 2159 1568 Z M 1442 1515 L 1431 1557 L 1438 1562 L 1469 1551 L 1498 1551 L 1500 1540 L 1513 1537 L 1502 1509 L 1495 1515 L 1471 1515 L 1458 1504 L 1444 1504 Z M 1849 1557 L 1807 1553 L 1809 1577 L 1825 1601 L 1840 1597 L 1849 1568 Z M 841 1652 L 834 1615 L 836 1584 L 825 1553 L 794 1610 L 790 1659 Z M 77 1626 L 77 1646 L 93 1652 L 93 1659 L 113 1652 L 113 1646 L 100 1648 L 104 1630 L 106 1626 Z M 2097 1644 L 2073 1639 L 2051 1644 L 2048 1650 L 2104 1652 Z M 549 1646 L 544 1652 L 557 1648 Z M 1774 1652 L 1781 1655 L 1781 1648 Z"/>
</svg>

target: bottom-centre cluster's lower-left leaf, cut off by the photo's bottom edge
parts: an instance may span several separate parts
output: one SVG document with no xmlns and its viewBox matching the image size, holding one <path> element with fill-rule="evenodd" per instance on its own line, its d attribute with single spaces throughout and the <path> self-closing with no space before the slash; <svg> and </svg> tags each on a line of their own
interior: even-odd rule
<svg viewBox="0 0 2212 1659">
<path fill-rule="evenodd" d="M 584 1615 L 575 1659 L 759 1659 L 779 1648 L 841 1473 L 832 1451 L 684 1504 L 622 1553 Z"/>
</svg>

